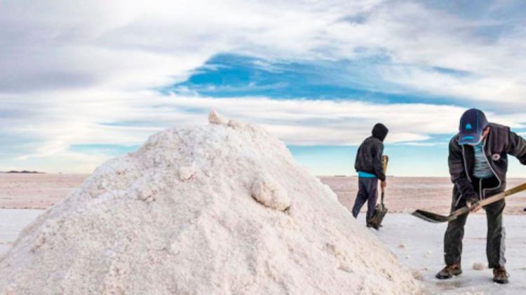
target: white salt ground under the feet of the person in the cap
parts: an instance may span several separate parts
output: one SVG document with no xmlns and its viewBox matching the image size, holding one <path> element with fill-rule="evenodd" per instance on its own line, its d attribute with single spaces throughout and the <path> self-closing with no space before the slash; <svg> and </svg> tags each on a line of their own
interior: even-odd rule
<svg viewBox="0 0 526 295">
<path fill-rule="evenodd" d="M 365 224 L 365 218 L 359 217 Z M 436 280 L 443 268 L 443 235 L 447 224 L 430 224 L 410 214 L 387 214 L 384 227 L 374 232 L 406 266 L 422 275 L 426 294 L 526 294 L 526 217 L 506 215 L 506 268 L 510 283 L 492 282 L 492 270 L 473 270 L 473 263 L 487 266 L 486 217 L 468 217 L 464 235 L 462 269 L 450 280 Z"/>
</svg>

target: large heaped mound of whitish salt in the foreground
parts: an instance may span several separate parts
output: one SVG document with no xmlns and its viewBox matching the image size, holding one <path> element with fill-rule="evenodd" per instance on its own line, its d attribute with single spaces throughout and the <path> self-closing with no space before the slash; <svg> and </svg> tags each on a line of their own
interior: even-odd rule
<svg viewBox="0 0 526 295">
<path fill-rule="evenodd" d="M 282 142 L 210 121 L 97 168 L 0 258 L 0 294 L 419 293 Z"/>
</svg>

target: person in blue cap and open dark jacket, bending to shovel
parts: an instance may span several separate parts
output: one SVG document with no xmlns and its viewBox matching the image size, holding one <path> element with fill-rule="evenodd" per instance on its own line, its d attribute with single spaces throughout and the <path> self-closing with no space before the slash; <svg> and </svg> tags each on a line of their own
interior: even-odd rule
<svg viewBox="0 0 526 295">
<path fill-rule="evenodd" d="M 451 210 L 466 205 L 471 212 L 481 209 L 478 202 L 506 189 L 508 154 L 526 165 L 526 141 L 510 128 L 488 123 L 479 109 L 468 109 L 460 118 L 459 133 L 449 146 L 448 164 L 454 184 Z M 506 233 L 502 226 L 504 200 L 486 205 L 487 218 L 486 256 L 488 266 L 493 269 L 493 281 L 508 283 L 504 267 Z M 462 238 L 468 214 L 459 216 L 447 224 L 444 235 L 445 268 L 436 274 L 440 280 L 460 275 Z"/>
</svg>

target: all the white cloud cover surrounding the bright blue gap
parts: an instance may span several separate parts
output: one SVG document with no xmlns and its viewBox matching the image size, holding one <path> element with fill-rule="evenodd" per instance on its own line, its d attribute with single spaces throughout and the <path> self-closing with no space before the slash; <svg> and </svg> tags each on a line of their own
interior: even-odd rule
<svg viewBox="0 0 526 295">
<path fill-rule="evenodd" d="M 170 125 L 204 122 L 203 114 L 188 107 L 219 109 L 262 124 L 290 144 L 356 144 L 377 121 L 392 130 L 391 142 L 421 141 L 451 133 L 462 111 L 431 104 L 165 97 L 150 91 L 184 81 L 192 69 L 224 52 L 269 60 L 382 54 L 393 62 L 372 78 L 408 92 L 508 109 L 525 105 L 523 27 L 488 42 L 475 31 L 494 20 L 464 20 L 414 2 L 1 1 L 1 6 L 0 134 L 11 141 L 1 153 L 11 158 L 4 157 L 0 169 L 24 159 L 46 170 L 53 163 L 75 171 L 93 167 L 105 156 L 83 157 L 68 146 L 137 144 Z M 473 74 L 440 74 L 432 67 Z M 489 117 L 515 127 L 525 123 L 520 112 Z M 101 125 L 112 122 L 124 124 Z"/>
</svg>

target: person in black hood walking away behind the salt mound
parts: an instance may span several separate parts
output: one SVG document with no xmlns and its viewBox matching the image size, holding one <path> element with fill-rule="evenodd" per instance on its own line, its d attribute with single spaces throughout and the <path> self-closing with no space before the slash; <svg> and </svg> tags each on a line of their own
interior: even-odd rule
<svg viewBox="0 0 526 295">
<path fill-rule="evenodd" d="M 358 217 L 360 209 L 367 202 L 367 215 L 365 222 L 370 226 L 369 220 L 375 212 L 378 198 L 378 180 L 382 181 L 382 188 L 386 187 L 386 175 L 383 169 L 382 156 L 384 153 L 384 139 L 389 130 L 382 123 L 377 123 L 372 128 L 372 136 L 367 137 L 356 153 L 354 168 L 358 172 L 358 193 L 354 201 L 353 217 Z"/>
</svg>

